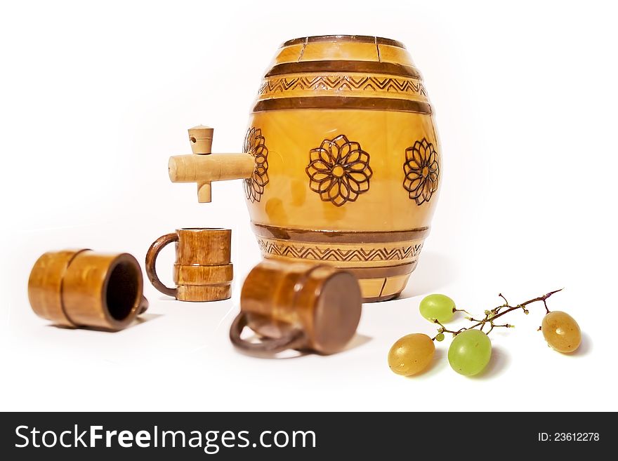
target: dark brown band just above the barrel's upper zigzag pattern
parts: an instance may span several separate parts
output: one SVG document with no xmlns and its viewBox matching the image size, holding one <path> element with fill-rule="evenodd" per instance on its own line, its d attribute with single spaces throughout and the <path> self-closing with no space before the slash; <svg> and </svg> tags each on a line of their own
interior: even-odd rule
<svg viewBox="0 0 618 461">
<path fill-rule="evenodd" d="M 360 72 L 362 74 L 386 74 L 412 77 L 420 79 L 421 74 L 416 67 L 395 64 L 394 62 L 378 62 L 378 61 L 301 61 L 301 62 L 284 62 L 272 66 L 265 77 L 284 75 L 284 74 L 302 74 L 305 72 Z"/>
</svg>

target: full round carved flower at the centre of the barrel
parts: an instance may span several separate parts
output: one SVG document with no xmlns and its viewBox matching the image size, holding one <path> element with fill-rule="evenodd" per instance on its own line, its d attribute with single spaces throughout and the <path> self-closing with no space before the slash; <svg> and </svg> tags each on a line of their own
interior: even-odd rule
<svg viewBox="0 0 618 461">
<path fill-rule="evenodd" d="M 344 135 L 325 139 L 320 147 L 312 149 L 305 172 L 309 176 L 309 188 L 320 194 L 322 201 L 330 201 L 335 206 L 355 201 L 367 192 L 373 175 L 369 154 L 358 142 L 348 141 Z"/>
</svg>

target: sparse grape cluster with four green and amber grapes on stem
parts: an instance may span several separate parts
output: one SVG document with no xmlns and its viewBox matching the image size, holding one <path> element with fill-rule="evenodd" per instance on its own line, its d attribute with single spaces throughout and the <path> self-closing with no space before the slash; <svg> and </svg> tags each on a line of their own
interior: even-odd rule
<svg viewBox="0 0 618 461">
<path fill-rule="evenodd" d="M 546 342 L 558 352 L 574 352 L 581 343 L 579 325 L 566 312 L 550 312 L 547 307 L 547 298 L 558 291 L 560 290 L 551 291 L 539 298 L 515 306 L 509 305 L 506 298 L 500 295 L 504 300 L 503 305 L 485 311 L 485 316 L 479 319 L 466 316 L 467 320 L 475 324 L 459 330 L 448 330 L 443 324 L 451 321 L 456 312 L 466 311 L 457 309 L 455 302 L 448 296 L 428 295 L 421 301 L 419 311 L 421 316 L 440 327 L 438 333 L 434 338 L 423 333 L 414 333 L 400 338 L 388 352 L 388 366 L 397 375 L 411 376 L 421 373 L 432 362 L 435 352 L 434 341 L 441 342 L 445 339 L 445 333 L 452 333 L 453 340 L 448 352 L 451 368 L 461 375 L 477 375 L 485 370 L 492 358 L 492 341 L 489 339 L 489 333 L 497 327 L 513 328 L 513 325 L 509 323 L 497 324 L 494 321 L 517 309 L 522 309 L 525 314 L 528 314 L 527 305 L 540 301 L 544 303 L 546 315 L 539 330 L 543 332 Z M 484 331 L 485 327 L 488 328 L 487 332 Z"/>
</svg>

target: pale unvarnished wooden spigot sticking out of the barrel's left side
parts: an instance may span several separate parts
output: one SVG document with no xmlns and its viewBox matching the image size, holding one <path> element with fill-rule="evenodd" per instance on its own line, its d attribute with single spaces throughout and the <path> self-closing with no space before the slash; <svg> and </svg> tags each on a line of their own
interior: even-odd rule
<svg viewBox="0 0 618 461">
<path fill-rule="evenodd" d="M 171 182 L 196 182 L 197 201 L 210 203 L 211 182 L 251 178 L 256 167 L 251 154 L 212 154 L 214 128 L 198 125 L 189 128 L 193 154 L 169 158 Z"/>
</svg>

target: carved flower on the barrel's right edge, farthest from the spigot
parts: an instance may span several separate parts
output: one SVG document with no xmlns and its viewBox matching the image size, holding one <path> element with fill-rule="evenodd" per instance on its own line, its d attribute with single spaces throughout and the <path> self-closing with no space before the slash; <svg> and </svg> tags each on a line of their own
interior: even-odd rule
<svg viewBox="0 0 618 461">
<path fill-rule="evenodd" d="M 440 176 L 438 154 L 433 144 L 426 138 L 414 142 L 412 147 L 406 149 L 403 172 L 405 173 L 403 187 L 410 199 L 416 201 L 416 205 L 429 201 L 433 193 L 438 190 Z"/>
</svg>

